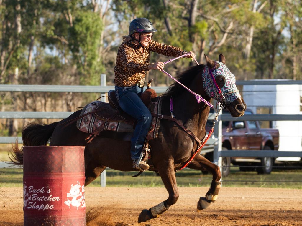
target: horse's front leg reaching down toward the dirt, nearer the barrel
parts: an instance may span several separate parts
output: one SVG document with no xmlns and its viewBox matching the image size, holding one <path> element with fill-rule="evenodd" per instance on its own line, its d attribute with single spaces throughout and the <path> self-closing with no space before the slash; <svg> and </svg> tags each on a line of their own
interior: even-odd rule
<svg viewBox="0 0 302 226">
<path fill-rule="evenodd" d="M 160 177 L 162 178 L 162 182 L 169 193 L 169 197 L 149 210 L 144 209 L 138 217 L 138 223 L 150 220 L 151 218 L 156 218 L 169 209 L 169 207 L 177 201 L 179 196 L 173 162 L 170 161 L 169 163 L 165 163 L 161 166 L 156 165 L 156 167 L 159 169 Z"/>
</svg>

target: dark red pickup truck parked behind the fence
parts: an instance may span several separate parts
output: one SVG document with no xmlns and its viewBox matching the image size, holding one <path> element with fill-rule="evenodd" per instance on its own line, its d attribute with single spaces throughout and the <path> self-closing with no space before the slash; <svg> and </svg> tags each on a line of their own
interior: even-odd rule
<svg viewBox="0 0 302 226">
<path fill-rule="evenodd" d="M 227 110 L 223 114 L 229 114 Z M 245 114 L 253 114 L 247 109 Z M 210 130 L 213 122 L 207 121 L 206 129 Z M 217 125 L 216 125 L 217 126 Z M 276 150 L 279 148 L 278 129 L 260 128 L 258 121 L 223 121 L 222 122 L 222 149 L 223 150 Z M 213 152 L 208 152 L 205 157 L 213 161 Z M 274 158 L 239 158 L 223 157 L 222 174 L 230 173 L 230 164 L 238 165 L 241 171 L 257 171 L 258 174 L 270 174 Z M 253 167 L 263 166 L 263 167 Z"/>
</svg>

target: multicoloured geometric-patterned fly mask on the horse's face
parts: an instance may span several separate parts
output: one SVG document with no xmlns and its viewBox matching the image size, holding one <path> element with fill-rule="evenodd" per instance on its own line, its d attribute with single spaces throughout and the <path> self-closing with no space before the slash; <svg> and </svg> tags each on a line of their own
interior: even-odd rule
<svg viewBox="0 0 302 226">
<path fill-rule="evenodd" d="M 218 100 L 221 104 L 227 105 L 241 97 L 239 90 L 236 87 L 236 78 L 229 68 L 226 67 L 222 62 L 215 61 L 215 66 L 219 65 L 217 69 L 211 69 L 208 66 L 204 67 L 202 72 L 202 82 L 204 86 L 204 91 L 206 94 L 215 100 Z M 222 75 L 225 77 L 225 84 L 222 88 L 219 88 L 215 77 L 217 75 Z M 221 90 L 221 91 L 220 91 Z"/>
</svg>

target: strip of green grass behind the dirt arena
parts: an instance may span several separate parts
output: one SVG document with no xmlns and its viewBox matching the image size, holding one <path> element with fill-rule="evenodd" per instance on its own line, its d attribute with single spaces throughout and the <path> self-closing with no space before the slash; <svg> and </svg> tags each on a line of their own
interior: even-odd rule
<svg viewBox="0 0 302 226">
<path fill-rule="evenodd" d="M 135 172 L 106 170 L 107 187 L 164 187 L 162 180 L 153 172 L 145 172 L 139 177 L 131 177 Z M 0 187 L 22 187 L 23 170 L 0 168 Z M 183 169 L 176 173 L 178 187 L 210 186 L 212 176 L 201 174 L 198 170 Z M 249 180 L 249 181 L 248 181 Z M 268 182 L 273 181 L 273 182 Z M 288 182 L 297 181 L 297 182 Z M 99 187 L 97 178 L 89 187 Z M 223 177 L 224 187 L 272 187 L 302 189 L 302 170 L 275 170 L 271 174 L 258 175 L 256 172 L 240 172 L 232 167 L 231 174 Z"/>
</svg>

